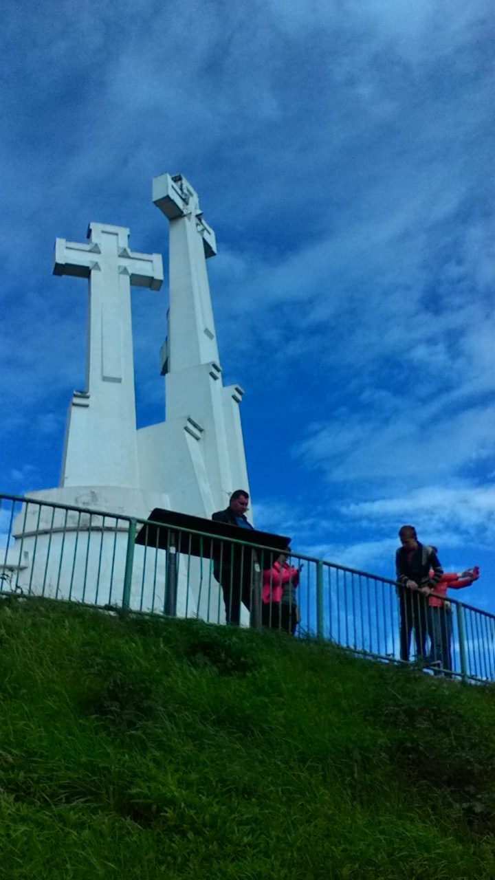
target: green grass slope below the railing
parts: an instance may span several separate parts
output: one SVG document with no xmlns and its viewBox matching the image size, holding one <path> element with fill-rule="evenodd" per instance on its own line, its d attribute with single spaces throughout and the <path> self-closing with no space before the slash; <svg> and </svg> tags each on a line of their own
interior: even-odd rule
<svg viewBox="0 0 495 880">
<path fill-rule="evenodd" d="M 0 877 L 495 878 L 495 690 L 0 601 Z"/>
</svg>

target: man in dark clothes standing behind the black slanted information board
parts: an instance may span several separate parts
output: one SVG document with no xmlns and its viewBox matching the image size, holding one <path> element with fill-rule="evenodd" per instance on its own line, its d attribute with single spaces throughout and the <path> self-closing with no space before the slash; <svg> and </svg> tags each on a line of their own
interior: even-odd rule
<svg viewBox="0 0 495 880">
<path fill-rule="evenodd" d="M 247 492 L 244 489 L 236 489 L 230 496 L 229 506 L 225 510 L 218 510 L 211 519 L 217 523 L 237 525 L 241 529 L 252 529 L 253 526 L 246 517 L 248 503 L 249 495 Z M 252 552 L 246 547 L 223 541 L 219 553 L 213 561 L 213 576 L 224 593 L 227 623 L 235 623 L 239 626 L 241 601 L 249 609 L 252 557 Z"/>
</svg>

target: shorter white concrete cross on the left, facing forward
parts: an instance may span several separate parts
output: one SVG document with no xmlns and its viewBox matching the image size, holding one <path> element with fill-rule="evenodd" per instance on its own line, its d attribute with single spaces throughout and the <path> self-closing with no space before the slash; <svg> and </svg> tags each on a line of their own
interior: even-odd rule
<svg viewBox="0 0 495 880">
<path fill-rule="evenodd" d="M 63 486 L 137 487 L 136 401 L 130 285 L 159 290 L 159 253 L 129 251 L 129 230 L 89 225 L 89 244 L 57 238 L 55 275 L 89 278 L 85 392 L 74 392 Z"/>
</svg>

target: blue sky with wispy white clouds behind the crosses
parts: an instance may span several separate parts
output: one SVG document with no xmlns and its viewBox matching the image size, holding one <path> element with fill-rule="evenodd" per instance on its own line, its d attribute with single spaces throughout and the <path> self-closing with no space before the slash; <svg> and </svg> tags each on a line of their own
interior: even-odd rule
<svg viewBox="0 0 495 880">
<path fill-rule="evenodd" d="M 57 485 L 85 282 L 57 236 L 166 256 L 151 178 L 216 231 L 256 523 L 391 576 L 397 528 L 495 612 L 493 13 L 482 0 L 12 4 L 2 36 L 4 492 Z M 166 288 L 133 290 L 138 424 Z M 460 594 L 461 595 L 461 594 Z"/>
</svg>

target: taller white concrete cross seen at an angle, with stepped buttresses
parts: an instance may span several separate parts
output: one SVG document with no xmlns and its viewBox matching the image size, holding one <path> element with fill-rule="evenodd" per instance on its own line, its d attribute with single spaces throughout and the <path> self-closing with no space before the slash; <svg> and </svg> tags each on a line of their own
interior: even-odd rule
<svg viewBox="0 0 495 880">
<path fill-rule="evenodd" d="M 217 253 L 196 191 L 181 174 L 153 180 L 169 221 L 169 310 L 160 352 L 166 422 L 137 432 L 142 487 L 159 485 L 174 510 L 210 517 L 248 489 L 239 385 L 224 386 L 206 260 Z"/>
</svg>

